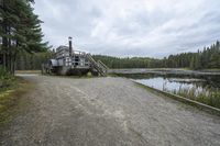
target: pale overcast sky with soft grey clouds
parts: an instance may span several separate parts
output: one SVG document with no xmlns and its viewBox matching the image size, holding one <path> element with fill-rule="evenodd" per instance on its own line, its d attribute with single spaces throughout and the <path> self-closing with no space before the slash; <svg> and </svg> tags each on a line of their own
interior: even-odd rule
<svg viewBox="0 0 220 146">
<path fill-rule="evenodd" d="M 35 0 L 45 41 L 112 56 L 164 57 L 220 40 L 220 0 Z"/>
</svg>

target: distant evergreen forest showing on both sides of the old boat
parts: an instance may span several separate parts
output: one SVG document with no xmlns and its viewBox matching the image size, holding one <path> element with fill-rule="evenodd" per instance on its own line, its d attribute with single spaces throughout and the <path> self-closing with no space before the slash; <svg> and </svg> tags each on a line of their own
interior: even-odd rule
<svg viewBox="0 0 220 146">
<path fill-rule="evenodd" d="M 106 55 L 92 55 L 96 60 L 103 61 L 109 68 L 189 68 L 189 69 L 219 69 L 220 68 L 220 43 L 199 49 L 197 53 L 182 53 L 169 55 L 163 59 L 150 57 L 113 57 Z M 53 57 L 53 52 L 16 56 L 18 70 L 37 70 L 41 64 Z"/>
</svg>

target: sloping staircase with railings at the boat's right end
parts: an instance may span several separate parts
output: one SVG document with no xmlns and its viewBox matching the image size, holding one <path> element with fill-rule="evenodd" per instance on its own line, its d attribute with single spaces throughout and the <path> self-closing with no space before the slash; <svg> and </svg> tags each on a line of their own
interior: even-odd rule
<svg viewBox="0 0 220 146">
<path fill-rule="evenodd" d="M 97 71 L 100 76 L 107 76 L 109 68 L 101 60 L 96 61 L 90 54 L 87 54 L 86 58 L 90 61 L 94 71 Z"/>
</svg>

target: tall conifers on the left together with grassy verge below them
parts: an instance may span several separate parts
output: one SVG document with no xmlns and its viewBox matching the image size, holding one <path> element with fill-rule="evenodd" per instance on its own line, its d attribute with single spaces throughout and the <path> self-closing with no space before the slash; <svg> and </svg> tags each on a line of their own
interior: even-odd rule
<svg viewBox="0 0 220 146">
<path fill-rule="evenodd" d="M 4 123 L 15 110 L 28 82 L 14 77 L 20 56 L 29 67 L 40 66 L 37 57 L 47 56 L 48 43 L 43 42 L 42 21 L 34 13 L 34 0 L 0 0 L 0 123 Z M 51 52 L 48 52 L 51 53 Z M 32 60 L 31 58 L 34 58 Z M 44 57 L 46 58 L 46 57 Z M 40 60 L 41 61 L 41 60 Z"/>
</svg>

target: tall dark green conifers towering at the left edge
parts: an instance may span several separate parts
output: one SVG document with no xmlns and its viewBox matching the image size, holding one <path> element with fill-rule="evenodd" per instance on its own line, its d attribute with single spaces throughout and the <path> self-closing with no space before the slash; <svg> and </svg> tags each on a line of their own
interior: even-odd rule
<svg viewBox="0 0 220 146">
<path fill-rule="evenodd" d="M 19 55 L 48 49 L 33 4 L 34 0 L 0 0 L 0 65 L 10 74 Z"/>
</svg>

